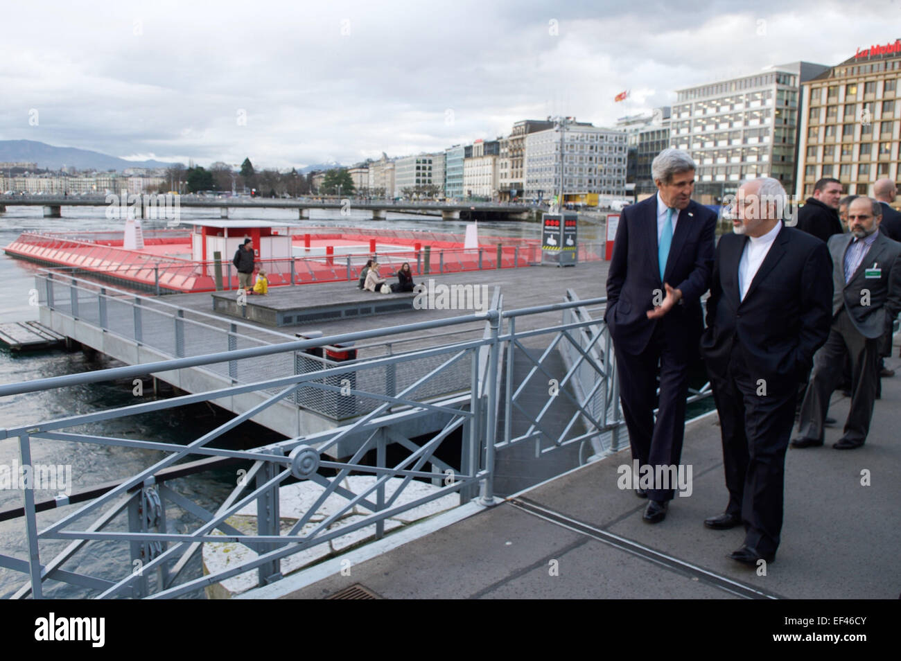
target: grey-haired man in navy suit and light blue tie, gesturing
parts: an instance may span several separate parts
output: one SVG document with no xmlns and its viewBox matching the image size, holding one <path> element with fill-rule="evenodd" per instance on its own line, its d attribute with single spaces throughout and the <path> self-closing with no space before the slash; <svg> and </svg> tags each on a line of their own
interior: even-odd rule
<svg viewBox="0 0 901 661">
<path fill-rule="evenodd" d="M 616 229 L 604 320 L 614 340 L 633 460 L 640 466 L 678 466 L 687 370 L 703 330 L 700 298 L 713 267 L 716 214 L 691 200 L 695 161 L 686 152 L 664 149 L 651 163 L 651 175 L 657 195 L 623 209 Z M 662 472 L 655 468 L 654 475 Z M 644 521 L 663 521 L 674 486 L 636 489 L 649 499 Z"/>
</svg>

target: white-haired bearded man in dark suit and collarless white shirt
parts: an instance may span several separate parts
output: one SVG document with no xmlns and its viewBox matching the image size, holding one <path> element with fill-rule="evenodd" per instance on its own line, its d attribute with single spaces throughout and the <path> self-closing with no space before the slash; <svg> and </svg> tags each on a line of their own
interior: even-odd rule
<svg viewBox="0 0 901 661">
<path fill-rule="evenodd" d="M 730 557 L 750 566 L 776 557 L 797 385 L 826 340 L 832 310 L 826 244 L 786 227 L 786 206 L 776 179 L 739 187 L 734 233 L 716 248 L 701 340 L 729 490 L 725 512 L 705 525 L 744 523 L 744 544 Z"/>
</svg>

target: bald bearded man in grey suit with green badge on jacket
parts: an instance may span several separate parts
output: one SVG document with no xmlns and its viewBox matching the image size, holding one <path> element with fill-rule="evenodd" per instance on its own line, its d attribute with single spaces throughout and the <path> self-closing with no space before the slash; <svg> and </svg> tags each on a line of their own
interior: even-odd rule
<svg viewBox="0 0 901 661">
<path fill-rule="evenodd" d="M 901 312 L 901 243 L 878 231 L 882 207 L 860 196 L 848 206 L 848 234 L 833 236 L 833 324 L 816 352 L 807 386 L 800 436 L 793 448 L 823 445 L 823 422 L 844 358 L 851 355 L 851 410 L 836 449 L 860 448 L 867 439 L 879 378 L 879 354 Z M 891 351 L 888 344 L 887 354 Z"/>
</svg>

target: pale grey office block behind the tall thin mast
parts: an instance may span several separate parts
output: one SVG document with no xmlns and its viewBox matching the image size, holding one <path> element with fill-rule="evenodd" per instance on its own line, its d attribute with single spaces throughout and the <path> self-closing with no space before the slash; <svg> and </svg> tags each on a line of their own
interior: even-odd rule
<svg viewBox="0 0 901 661">
<path fill-rule="evenodd" d="M 572 118 L 570 118 L 572 119 Z M 565 202 L 597 204 L 598 196 L 625 195 L 626 134 L 569 122 L 563 131 Z M 525 195 L 551 199 L 560 193 L 560 127 L 525 136 Z"/>
</svg>

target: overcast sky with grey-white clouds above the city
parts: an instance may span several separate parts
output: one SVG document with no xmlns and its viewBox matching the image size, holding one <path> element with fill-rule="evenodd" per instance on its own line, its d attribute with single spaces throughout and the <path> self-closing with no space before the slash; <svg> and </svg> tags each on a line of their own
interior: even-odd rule
<svg viewBox="0 0 901 661">
<path fill-rule="evenodd" d="M 895 41 L 901 2 L 32 0 L 0 26 L 0 140 L 291 168 L 549 114 L 613 126 L 680 87 Z"/>
</svg>

